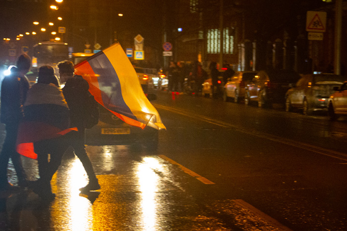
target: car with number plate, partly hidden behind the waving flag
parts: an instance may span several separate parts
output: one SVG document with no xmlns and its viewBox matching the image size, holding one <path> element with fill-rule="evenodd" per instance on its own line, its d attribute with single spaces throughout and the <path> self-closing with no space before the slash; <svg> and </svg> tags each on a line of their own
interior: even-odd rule
<svg viewBox="0 0 347 231">
<path fill-rule="evenodd" d="M 147 98 L 156 99 L 155 94 L 148 94 Z M 158 147 L 159 131 L 146 126 L 141 128 L 130 126 L 99 106 L 99 123 L 91 129 L 86 129 L 85 141 L 87 145 L 137 145 L 150 150 Z"/>
</svg>

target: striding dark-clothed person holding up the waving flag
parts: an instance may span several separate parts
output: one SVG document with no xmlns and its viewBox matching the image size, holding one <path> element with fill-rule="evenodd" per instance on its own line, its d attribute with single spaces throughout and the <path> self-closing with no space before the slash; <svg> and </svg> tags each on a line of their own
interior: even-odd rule
<svg viewBox="0 0 347 231">
<path fill-rule="evenodd" d="M 98 179 L 95 176 L 93 165 L 87 155 L 85 139 L 85 108 L 84 101 L 88 97 L 89 85 L 82 76 L 74 76 L 74 65 L 71 61 L 62 61 L 58 63 L 60 83 L 65 83 L 62 89 L 67 105 L 70 109 L 71 125 L 77 127 L 78 132 L 71 140 L 71 146 L 76 156 L 82 162 L 82 165 L 88 175 L 89 183 L 80 188 L 81 192 L 93 191 L 100 189 Z"/>
</svg>

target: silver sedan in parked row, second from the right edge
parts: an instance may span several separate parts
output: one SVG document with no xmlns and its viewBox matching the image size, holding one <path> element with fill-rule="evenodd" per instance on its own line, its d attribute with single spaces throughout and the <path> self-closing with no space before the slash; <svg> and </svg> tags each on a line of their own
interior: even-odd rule
<svg viewBox="0 0 347 231">
<path fill-rule="evenodd" d="M 334 74 L 307 74 L 297 81 L 295 87 L 286 93 L 286 111 L 302 109 L 302 114 L 326 110 L 329 96 L 334 87 L 339 87 L 346 78 Z"/>
</svg>

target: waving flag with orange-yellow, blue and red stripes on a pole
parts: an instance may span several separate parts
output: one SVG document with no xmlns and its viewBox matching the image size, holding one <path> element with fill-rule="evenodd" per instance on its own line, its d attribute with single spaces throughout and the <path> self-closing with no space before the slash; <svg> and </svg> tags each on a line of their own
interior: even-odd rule
<svg viewBox="0 0 347 231">
<path fill-rule="evenodd" d="M 119 43 L 77 64 L 75 74 L 88 82 L 96 101 L 125 123 L 142 129 L 146 125 L 166 129 Z"/>
</svg>

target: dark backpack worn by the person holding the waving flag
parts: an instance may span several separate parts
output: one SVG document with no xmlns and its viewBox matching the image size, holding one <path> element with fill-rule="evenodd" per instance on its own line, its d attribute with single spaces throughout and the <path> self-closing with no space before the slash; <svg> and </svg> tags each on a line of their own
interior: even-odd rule
<svg viewBox="0 0 347 231">
<path fill-rule="evenodd" d="M 99 106 L 94 96 L 88 92 L 84 100 L 84 128 L 91 129 L 99 122 Z"/>
</svg>

